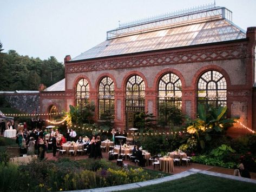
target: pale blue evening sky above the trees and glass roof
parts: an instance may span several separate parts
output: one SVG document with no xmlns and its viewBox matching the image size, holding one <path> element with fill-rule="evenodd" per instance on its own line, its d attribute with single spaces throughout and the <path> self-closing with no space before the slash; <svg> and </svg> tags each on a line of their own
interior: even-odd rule
<svg viewBox="0 0 256 192">
<path fill-rule="evenodd" d="M 233 23 L 256 27 L 256 0 L 216 0 L 233 12 Z M 3 52 L 63 62 L 106 40 L 121 23 L 152 17 L 214 0 L 0 0 Z"/>
</svg>

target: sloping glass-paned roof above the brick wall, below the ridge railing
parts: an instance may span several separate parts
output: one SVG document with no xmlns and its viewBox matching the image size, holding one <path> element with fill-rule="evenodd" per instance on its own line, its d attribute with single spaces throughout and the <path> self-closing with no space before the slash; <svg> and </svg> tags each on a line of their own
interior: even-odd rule
<svg viewBox="0 0 256 192">
<path fill-rule="evenodd" d="M 172 24 L 164 29 L 157 28 L 149 32 L 148 30 L 142 30 L 139 33 L 110 38 L 71 59 L 71 61 L 241 38 L 246 38 L 243 30 L 235 26 L 228 19 L 215 17 L 205 21 L 193 21 L 179 25 Z"/>
</svg>

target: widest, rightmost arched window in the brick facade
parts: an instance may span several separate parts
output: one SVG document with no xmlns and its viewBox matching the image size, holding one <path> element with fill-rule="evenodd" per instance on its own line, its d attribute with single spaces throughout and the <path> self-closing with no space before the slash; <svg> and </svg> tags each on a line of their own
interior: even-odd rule
<svg viewBox="0 0 256 192">
<path fill-rule="evenodd" d="M 198 81 L 198 103 L 213 107 L 227 105 L 227 83 L 218 71 L 207 71 Z"/>
</svg>

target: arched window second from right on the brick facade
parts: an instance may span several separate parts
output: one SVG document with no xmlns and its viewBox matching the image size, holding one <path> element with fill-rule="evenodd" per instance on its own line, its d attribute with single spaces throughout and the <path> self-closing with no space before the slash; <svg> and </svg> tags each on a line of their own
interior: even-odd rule
<svg viewBox="0 0 256 192">
<path fill-rule="evenodd" d="M 170 103 L 176 107 L 182 107 L 182 83 L 180 78 L 173 74 L 168 73 L 161 77 L 158 87 L 158 101 L 161 103 Z"/>
</svg>

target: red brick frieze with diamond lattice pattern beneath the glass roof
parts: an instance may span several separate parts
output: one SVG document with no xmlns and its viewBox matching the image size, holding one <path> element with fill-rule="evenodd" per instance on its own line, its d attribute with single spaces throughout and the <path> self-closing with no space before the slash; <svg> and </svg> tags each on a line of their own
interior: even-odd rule
<svg viewBox="0 0 256 192">
<path fill-rule="evenodd" d="M 88 72 L 97 70 L 150 67 L 166 64 L 217 61 L 223 59 L 241 59 L 246 57 L 245 53 L 246 45 L 242 44 L 233 45 L 231 47 L 198 49 L 196 51 L 169 51 L 168 54 L 79 62 L 79 64 L 68 63 L 66 66 L 66 71 L 67 73 Z"/>
</svg>

